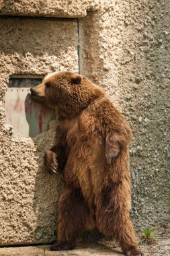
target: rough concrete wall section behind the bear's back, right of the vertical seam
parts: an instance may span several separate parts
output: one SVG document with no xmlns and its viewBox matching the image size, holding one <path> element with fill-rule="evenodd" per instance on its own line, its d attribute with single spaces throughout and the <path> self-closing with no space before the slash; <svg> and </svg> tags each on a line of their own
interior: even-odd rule
<svg viewBox="0 0 170 256">
<path fill-rule="evenodd" d="M 132 220 L 167 227 L 170 2 L 105 1 L 80 22 L 81 73 L 102 86 L 133 131 Z"/>
</svg>

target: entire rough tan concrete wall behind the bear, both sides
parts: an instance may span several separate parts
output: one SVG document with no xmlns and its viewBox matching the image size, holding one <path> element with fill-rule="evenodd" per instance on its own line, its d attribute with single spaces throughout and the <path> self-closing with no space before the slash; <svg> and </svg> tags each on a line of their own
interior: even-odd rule
<svg viewBox="0 0 170 256">
<path fill-rule="evenodd" d="M 132 127 L 132 219 L 136 230 L 161 225 L 166 232 L 170 3 L 72 1 L 67 6 L 65 1 L 57 2 L 34 0 L 26 9 L 24 0 L 0 1 L 1 15 L 79 18 L 1 20 L 1 100 L 11 74 L 78 71 L 79 66 L 83 75 L 108 92 Z M 52 145 L 56 122 L 52 120 L 48 131 L 34 139 L 14 138 L 10 127 L 4 126 L 3 106 L 0 115 L 1 244 L 50 242 L 55 237 L 62 181 L 44 174 L 42 163 L 44 151 Z"/>
</svg>

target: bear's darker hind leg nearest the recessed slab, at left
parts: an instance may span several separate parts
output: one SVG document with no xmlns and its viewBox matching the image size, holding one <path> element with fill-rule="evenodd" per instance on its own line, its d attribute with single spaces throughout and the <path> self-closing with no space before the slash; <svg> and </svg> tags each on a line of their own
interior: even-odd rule
<svg viewBox="0 0 170 256">
<path fill-rule="evenodd" d="M 59 200 L 58 242 L 51 251 L 74 249 L 83 232 L 94 228 L 93 216 L 85 205 L 80 189 L 65 188 Z"/>
</svg>

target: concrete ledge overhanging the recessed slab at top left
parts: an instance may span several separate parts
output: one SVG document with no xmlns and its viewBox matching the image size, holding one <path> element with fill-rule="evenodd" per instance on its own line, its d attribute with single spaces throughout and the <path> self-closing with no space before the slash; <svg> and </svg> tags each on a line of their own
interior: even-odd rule
<svg viewBox="0 0 170 256">
<path fill-rule="evenodd" d="M 97 8 L 99 0 L 0 0 L 0 15 L 79 18 Z"/>
</svg>

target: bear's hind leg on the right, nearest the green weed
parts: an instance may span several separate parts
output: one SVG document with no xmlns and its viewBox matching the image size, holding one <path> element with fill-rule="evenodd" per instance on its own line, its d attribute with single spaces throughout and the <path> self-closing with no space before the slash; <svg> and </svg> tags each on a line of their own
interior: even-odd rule
<svg viewBox="0 0 170 256">
<path fill-rule="evenodd" d="M 116 238 L 126 256 L 142 256 L 129 216 L 130 192 L 126 183 L 111 183 L 101 191 L 97 205 L 97 228 Z"/>
</svg>

